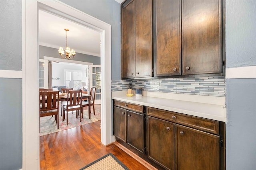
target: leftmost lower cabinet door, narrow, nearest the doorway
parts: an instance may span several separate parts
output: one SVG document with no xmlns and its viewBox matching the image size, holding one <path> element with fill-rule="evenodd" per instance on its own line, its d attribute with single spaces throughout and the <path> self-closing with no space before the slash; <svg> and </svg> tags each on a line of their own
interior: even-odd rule
<svg viewBox="0 0 256 170">
<path fill-rule="evenodd" d="M 114 135 L 126 142 L 126 110 L 114 106 Z"/>
</svg>

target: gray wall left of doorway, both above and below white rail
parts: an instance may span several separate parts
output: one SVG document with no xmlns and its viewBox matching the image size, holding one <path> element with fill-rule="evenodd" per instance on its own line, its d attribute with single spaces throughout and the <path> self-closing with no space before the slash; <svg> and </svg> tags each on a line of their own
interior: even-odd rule
<svg viewBox="0 0 256 170">
<path fill-rule="evenodd" d="M 0 69 L 22 70 L 21 1 L 0 0 L 0 18 Z M 22 79 L 0 78 L 0 169 L 21 168 Z"/>
</svg>

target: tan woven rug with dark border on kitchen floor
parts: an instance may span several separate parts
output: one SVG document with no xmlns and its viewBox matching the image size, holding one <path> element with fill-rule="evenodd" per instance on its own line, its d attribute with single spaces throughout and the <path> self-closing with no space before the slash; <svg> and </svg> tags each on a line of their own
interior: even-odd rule
<svg viewBox="0 0 256 170">
<path fill-rule="evenodd" d="M 80 170 L 129 170 L 116 156 L 109 153 Z"/>
</svg>

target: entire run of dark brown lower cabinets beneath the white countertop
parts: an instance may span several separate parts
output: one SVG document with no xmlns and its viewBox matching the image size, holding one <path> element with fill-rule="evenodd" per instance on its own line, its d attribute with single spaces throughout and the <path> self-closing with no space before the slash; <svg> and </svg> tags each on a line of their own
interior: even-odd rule
<svg viewBox="0 0 256 170">
<path fill-rule="evenodd" d="M 225 170 L 224 129 L 221 121 L 114 100 L 116 140 L 157 169 Z"/>
</svg>

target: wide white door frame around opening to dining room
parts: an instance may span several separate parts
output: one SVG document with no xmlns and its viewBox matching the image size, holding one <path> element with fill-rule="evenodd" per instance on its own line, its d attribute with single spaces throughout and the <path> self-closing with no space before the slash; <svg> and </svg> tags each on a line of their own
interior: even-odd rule
<svg viewBox="0 0 256 170">
<path fill-rule="evenodd" d="M 52 0 L 22 1 L 22 169 L 40 169 L 38 106 L 38 15 L 44 10 L 100 32 L 101 35 L 101 142 L 108 145 L 112 137 L 111 109 L 111 25 Z M 61 10 L 61 11 L 60 11 Z"/>
</svg>

